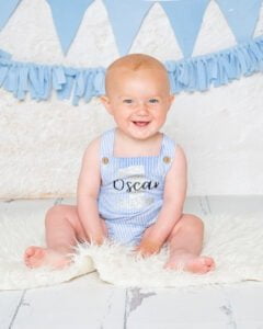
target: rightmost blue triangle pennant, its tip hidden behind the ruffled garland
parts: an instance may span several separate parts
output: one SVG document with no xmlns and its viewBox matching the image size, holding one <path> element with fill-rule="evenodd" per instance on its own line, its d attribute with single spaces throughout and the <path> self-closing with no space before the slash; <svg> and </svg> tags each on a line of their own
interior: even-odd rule
<svg viewBox="0 0 263 329">
<path fill-rule="evenodd" d="M 216 0 L 237 42 L 253 36 L 262 0 Z"/>
</svg>

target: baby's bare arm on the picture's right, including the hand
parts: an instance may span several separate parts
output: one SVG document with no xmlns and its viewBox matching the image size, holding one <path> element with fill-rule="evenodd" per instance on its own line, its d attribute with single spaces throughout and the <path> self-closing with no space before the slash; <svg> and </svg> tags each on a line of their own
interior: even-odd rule
<svg viewBox="0 0 263 329">
<path fill-rule="evenodd" d="M 174 161 L 165 177 L 162 208 L 149 235 L 142 238 L 137 249 L 142 254 L 158 252 L 171 234 L 183 213 L 186 186 L 186 159 L 183 149 L 176 146 Z"/>
</svg>

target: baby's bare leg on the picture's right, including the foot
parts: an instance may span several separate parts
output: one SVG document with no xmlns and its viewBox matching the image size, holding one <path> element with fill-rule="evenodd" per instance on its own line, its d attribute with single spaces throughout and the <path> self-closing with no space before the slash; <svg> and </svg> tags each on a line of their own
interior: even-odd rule
<svg viewBox="0 0 263 329">
<path fill-rule="evenodd" d="M 210 257 L 201 256 L 203 237 L 203 222 L 194 215 L 183 214 L 168 239 L 170 257 L 165 268 L 181 268 L 194 273 L 214 270 L 214 260 Z"/>
</svg>

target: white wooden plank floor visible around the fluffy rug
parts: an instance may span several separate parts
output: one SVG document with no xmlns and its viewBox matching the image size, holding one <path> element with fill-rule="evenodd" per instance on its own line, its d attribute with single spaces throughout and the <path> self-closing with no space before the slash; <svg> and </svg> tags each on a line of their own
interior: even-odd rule
<svg viewBox="0 0 263 329">
<path fill-rule="evenodd" d="M 26 213 L 72 200 L 2 201 Z M 185 212 L 263 212 L 263 196 L 191 197 Z M 263 226 L 263 223 L 262 223 Z M 1 241 L 0 241 L 1 242 Z M 263 260 L 262 260 L 263 261 Z M 56 286 L 0 292 L 0 329 L 263 329 L 263 283 L 198 288 L 121 288 L 95 273 Z"/>
</svg>

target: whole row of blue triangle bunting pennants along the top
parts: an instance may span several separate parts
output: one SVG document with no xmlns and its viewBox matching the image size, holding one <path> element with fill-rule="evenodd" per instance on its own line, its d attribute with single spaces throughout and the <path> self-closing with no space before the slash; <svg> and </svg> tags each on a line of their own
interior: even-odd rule
<svg viewBox="0 0 263 329">
<path fill-rule="evenodd" d="M 22 0 L 0 0 L 0 29 Z M 95 0 L 46 0 L 62 52 L 67 54 L 83 15 Z M 152 5 L 160 5 L 168 16 L 185 58 L 192 56 L 203 16 L 213 0 L 102 0 L 115 36 L 119 55 L 130 50 L 133 42 Z M 248 42 L 259 19 L 263 0 L 214 0 L 221 10 L 238 43 Z"/>
</svg>

